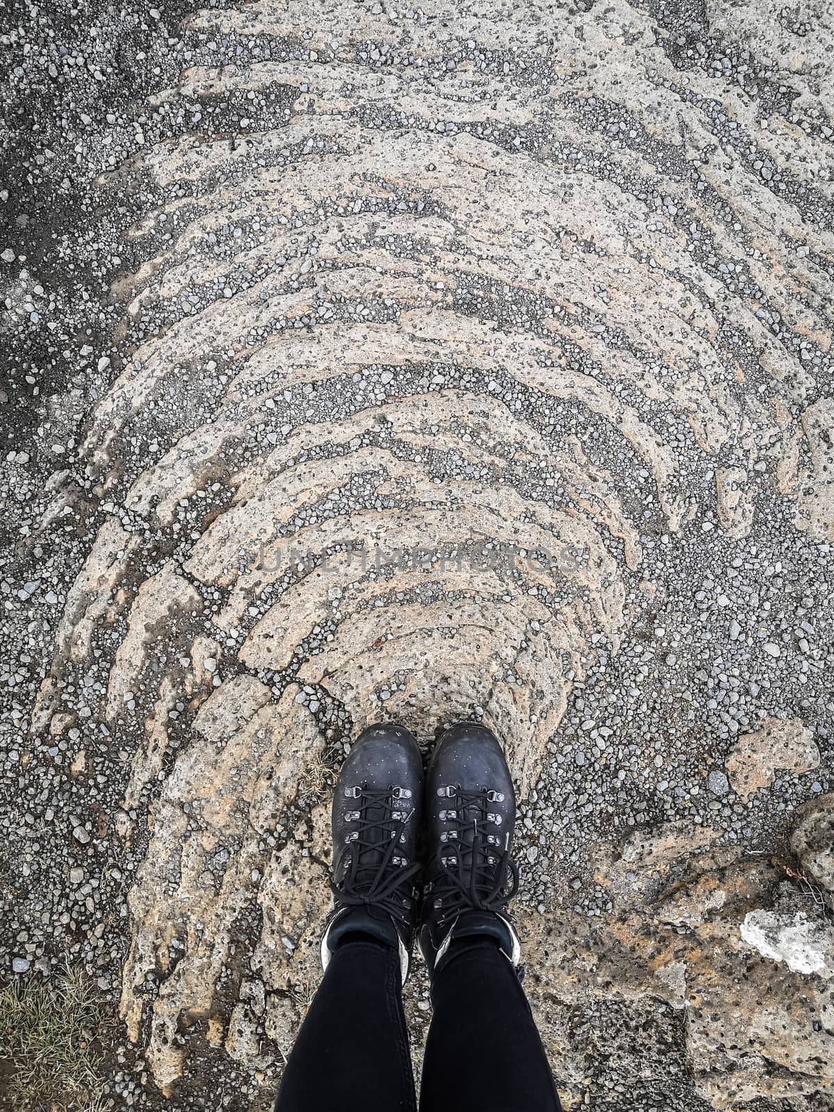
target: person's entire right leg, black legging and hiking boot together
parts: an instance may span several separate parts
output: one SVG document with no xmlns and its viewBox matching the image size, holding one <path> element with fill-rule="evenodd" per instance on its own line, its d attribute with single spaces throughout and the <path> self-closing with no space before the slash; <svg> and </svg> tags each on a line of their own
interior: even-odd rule
<svg viewBox="0 0 834 1112">
<path fill-rule="evenodd" d="M 420 1108 L 455 1112 L 559 1112 L 559 1099 L 518 981 L 508 905 L 516 807 L 502 746 L 478 723 L 438 742 L 426 780 L 433 851 L 420 950 L 434 1014 Z"/>
</svg>

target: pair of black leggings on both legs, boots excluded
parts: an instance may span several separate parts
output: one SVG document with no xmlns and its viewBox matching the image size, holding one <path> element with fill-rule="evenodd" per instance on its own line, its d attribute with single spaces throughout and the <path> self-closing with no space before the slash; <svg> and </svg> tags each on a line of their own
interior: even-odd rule
<svg viewBox="0 0 834 1112">
<path fill-rule="evenodd" d="M 463 939 L 431 983 L 421 1112 L 560 1112 L 518 977 L 488 939 Z M 346 941 L 301 1024 L 276 1112 L 414 1112 L 399 959 Z"/>
</svg>

